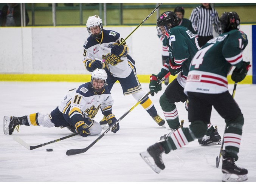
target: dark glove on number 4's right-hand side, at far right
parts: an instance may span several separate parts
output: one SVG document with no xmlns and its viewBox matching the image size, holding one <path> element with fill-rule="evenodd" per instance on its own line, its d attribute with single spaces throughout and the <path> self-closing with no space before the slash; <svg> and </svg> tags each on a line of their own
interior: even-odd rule
<svg viewBox="0 0 256 184">
<path fill-rule="evenodd" d="M 235 68 L 232 75 L 231 75 L 231 79 L 235 82 L 235 83 L 239 83 L 242 80 L 244 80 L 245 76 L 247 75 L 248 70 L 250 69 L 251 65 L 250 65 L 250 61 L 245 62 L 243 61 L 242 67 L 240 68 Z"/>
</svg>

